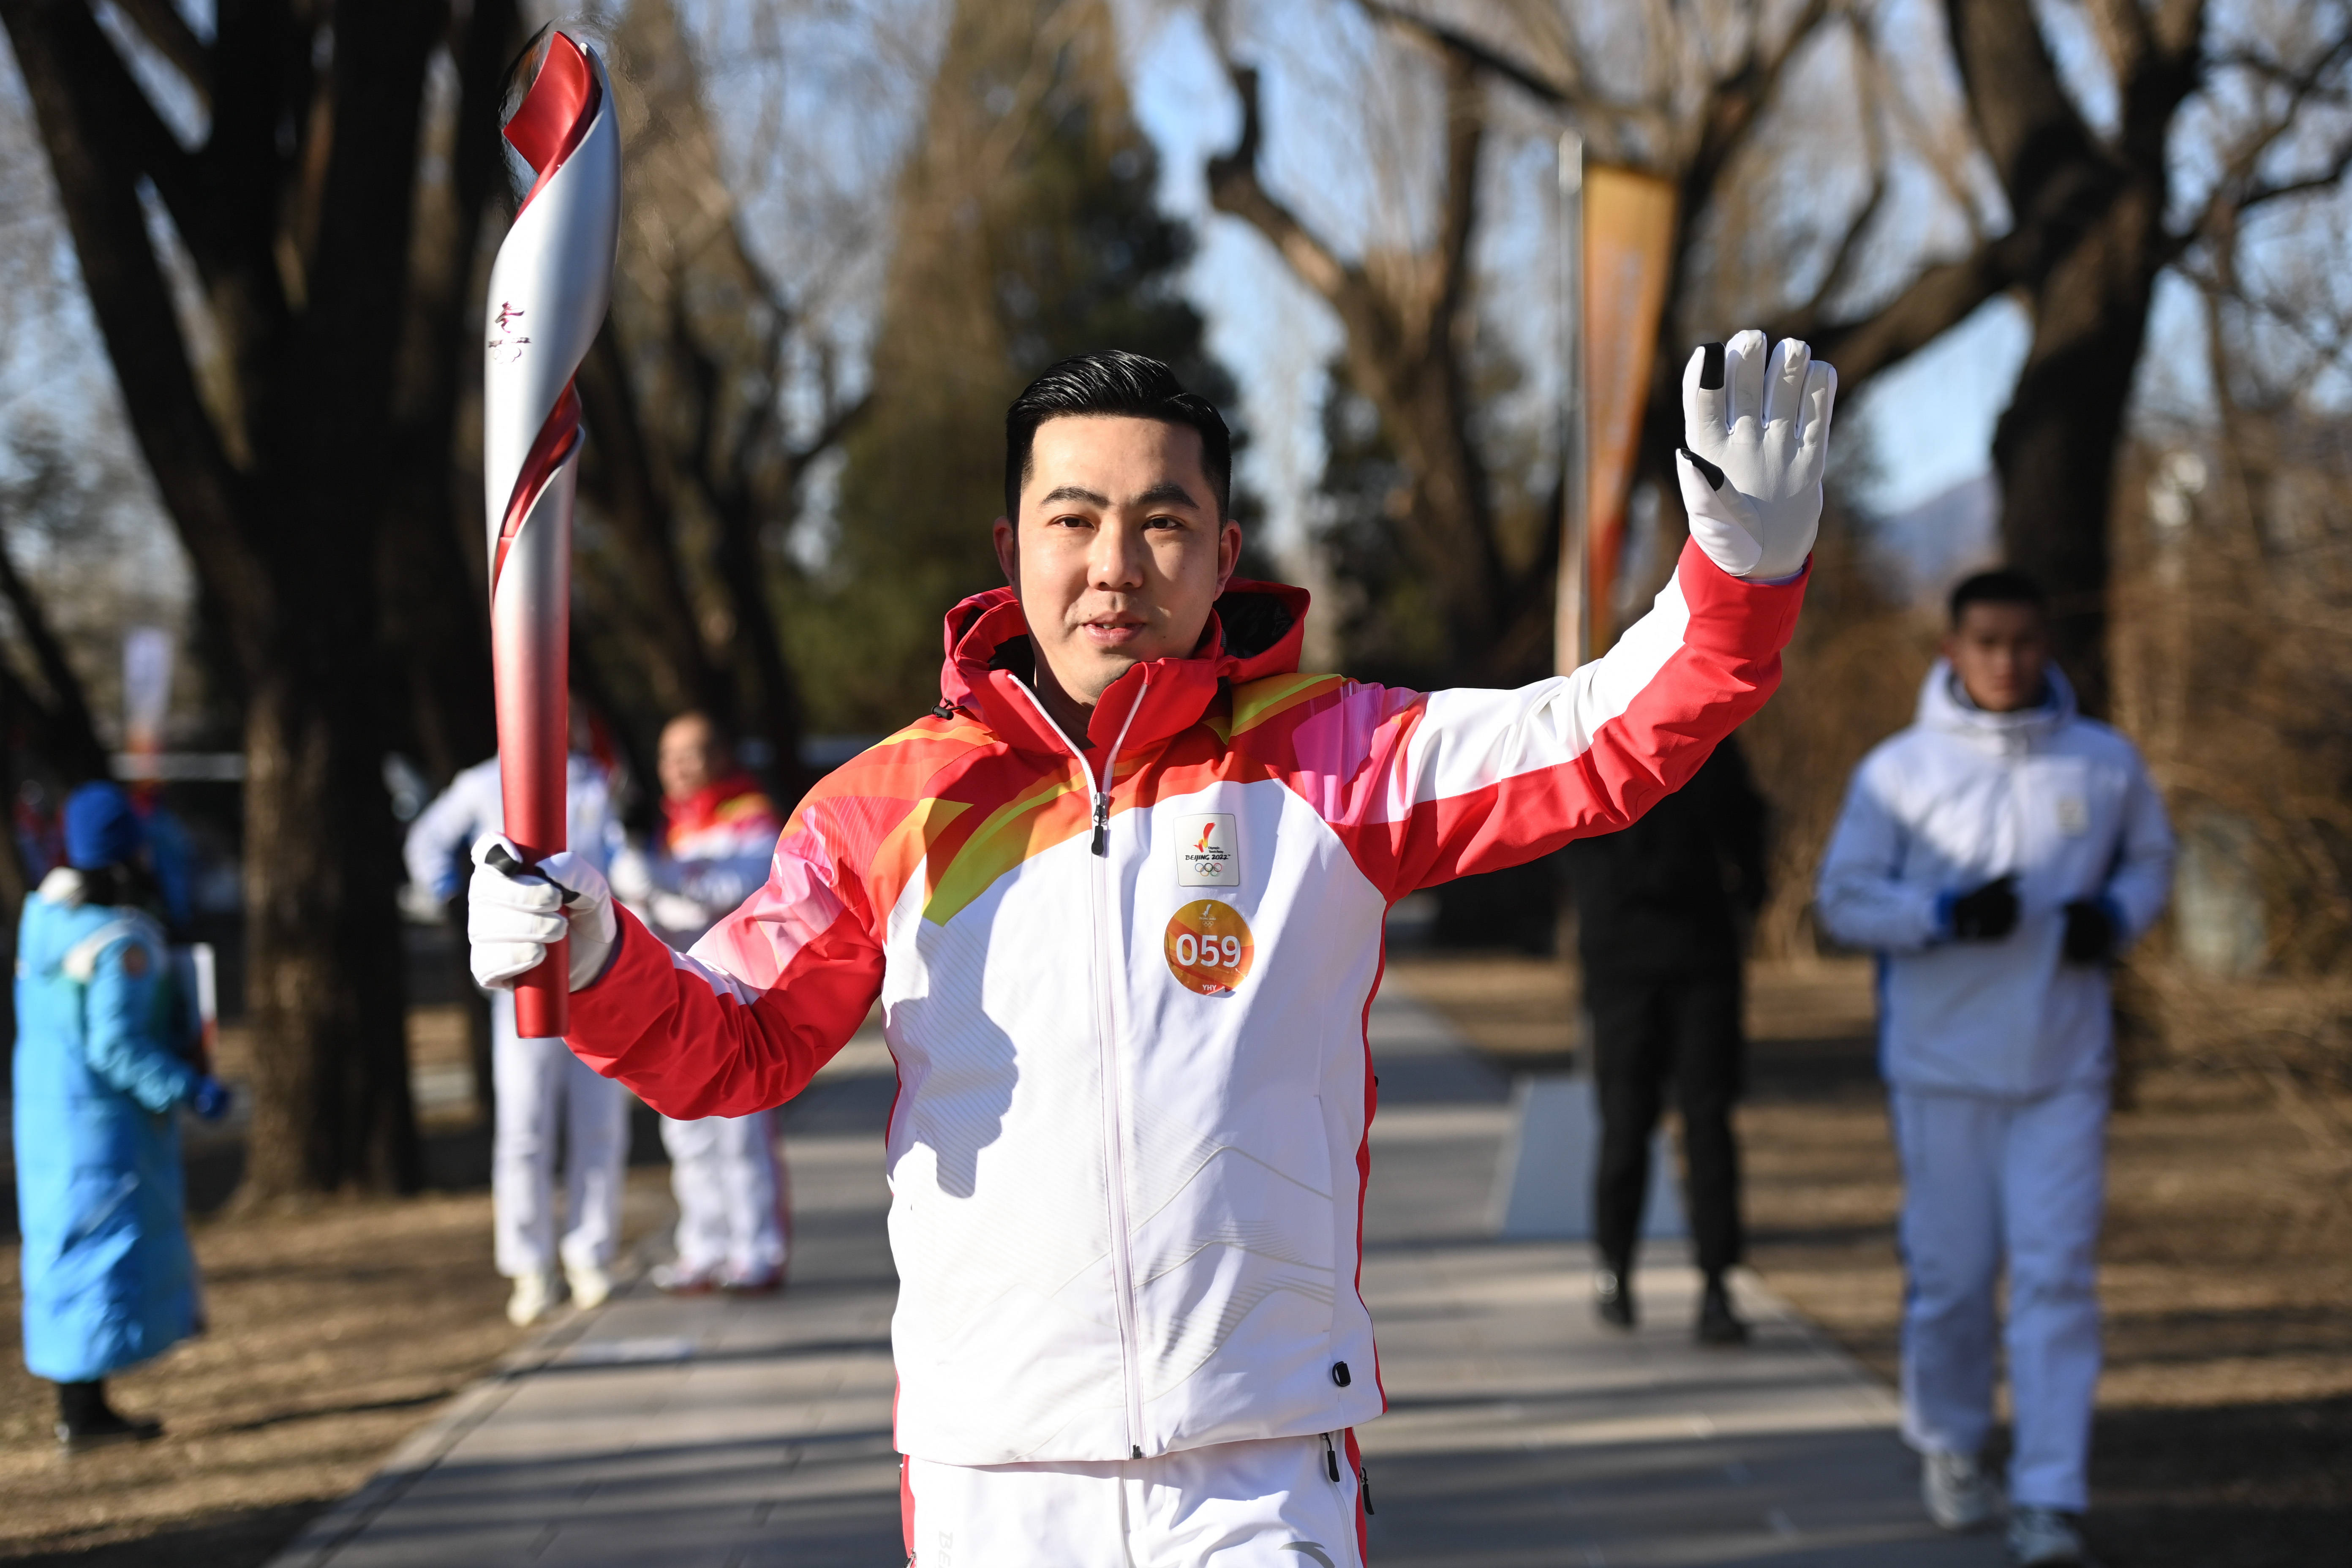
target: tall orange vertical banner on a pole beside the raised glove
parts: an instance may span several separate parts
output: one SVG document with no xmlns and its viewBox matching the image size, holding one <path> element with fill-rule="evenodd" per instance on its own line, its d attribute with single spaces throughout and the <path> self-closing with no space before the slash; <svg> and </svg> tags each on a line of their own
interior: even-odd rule
<svg viewBox="0 0 2352 1568">
<path fill-rule="evenodd" d="M 1649 374 L 1665 313 L 1675 247 L 1675 186 L 1632 169 L 1585 169 L 1581 183 L 1583 313 L 1583 574 L 1581 642 L 1573 661 L 1595 658 L 1616 639 L 1616 578 L 1625 545 L 1625 498 L 1635 444 L 1649 407 Z M 1566 552 L 1562 557 L 1566 569 Z"/>
</svg>

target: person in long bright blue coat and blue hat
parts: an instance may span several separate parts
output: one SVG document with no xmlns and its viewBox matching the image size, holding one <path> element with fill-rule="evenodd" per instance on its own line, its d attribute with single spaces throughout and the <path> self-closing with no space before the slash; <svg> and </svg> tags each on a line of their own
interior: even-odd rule
<svg viewBox="0 0 2352 1568">
<path fill-rule="evenodd" d="M 216 1119 L 228 1091 L 193 1060 L 158 903 L 129 797 L 75 790 L 66 865 L 16 922 L 24 1363 L 56 1385 L 66 1450 L 155 1436 L 106 1403 L 106 1378 L 198 1331 L 174 1112 Z"/>
</svg>

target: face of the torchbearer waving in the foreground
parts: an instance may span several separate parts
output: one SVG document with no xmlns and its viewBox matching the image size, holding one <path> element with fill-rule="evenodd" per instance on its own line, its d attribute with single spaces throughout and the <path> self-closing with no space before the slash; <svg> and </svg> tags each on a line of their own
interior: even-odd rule
<svg viewBox="0 0 2352 1568">
<path fill-rule="evenodd" d="M 1200 644 L 1242 557 L 1218 517 L 1200 433 L 1157 418 L 1049 418 L 997 562 L 1054 682 L 1091 705 L 1131 665 Z"/>
</svg>

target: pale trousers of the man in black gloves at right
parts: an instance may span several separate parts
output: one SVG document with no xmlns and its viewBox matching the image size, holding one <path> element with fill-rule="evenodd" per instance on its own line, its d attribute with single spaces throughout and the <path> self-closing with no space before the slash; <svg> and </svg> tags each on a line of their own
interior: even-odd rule
<svg viewBox="0 0 2352 1568">
<path fill-rule="evenodd" d="M 1903 1436 L 1976 1453 L 1992 1432 L 1994 1281 L 2009 1265 L 2009 1497 L 2089 1505 L 2107 1091 L 2042 1100 L 1893 1091 L 1903 1157 Z"/>
</svg>

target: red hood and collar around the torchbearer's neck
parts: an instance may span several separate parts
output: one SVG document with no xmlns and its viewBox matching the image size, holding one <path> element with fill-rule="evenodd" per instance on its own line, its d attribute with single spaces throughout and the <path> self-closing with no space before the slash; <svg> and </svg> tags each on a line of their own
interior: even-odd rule
<svg viewBox="0 0 2352 1568">
<path fill-rule="evenodd" d="M 1089 750 L 1127 736 L 1141 748 L 1190 729 L 1225 684 L 1289 675 L 1308 630 L 1305 588 L 1235 578 L 1209 611 L 1200 644 L 1183 658 L 1152 658 L 1110 682 L 1082 741 Z M 978 715 L 1009 745 L 1065 750 L 1030 693 L 1037 651 L 1011 588 L 976 592 L 948 611 L 948 661 L 938 672 L 943 708 Z"/>
</svg>

